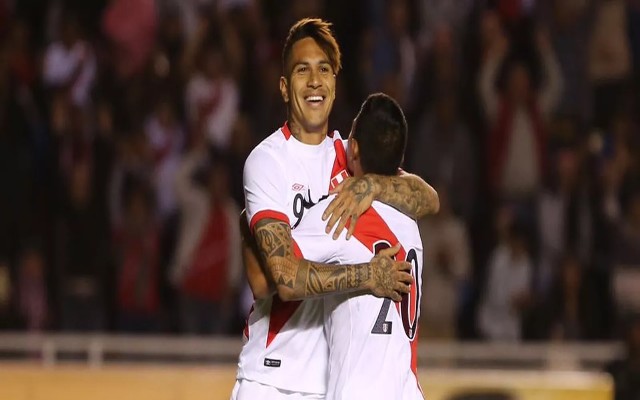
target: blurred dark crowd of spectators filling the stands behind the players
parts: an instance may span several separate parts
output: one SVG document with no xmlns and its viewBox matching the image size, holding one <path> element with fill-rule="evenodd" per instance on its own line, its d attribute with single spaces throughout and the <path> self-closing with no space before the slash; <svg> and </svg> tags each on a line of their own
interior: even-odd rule
<svg viewBox="0 0 640 400">
<path fill-rule="evenodd" d="M 242 168 L 299 18 L 331 128 L 405 109 L 421 336 L 607 340 L 638 309 L 638 0 L 0 0 L 0 328 L 241 332 Z"/>
</svg>

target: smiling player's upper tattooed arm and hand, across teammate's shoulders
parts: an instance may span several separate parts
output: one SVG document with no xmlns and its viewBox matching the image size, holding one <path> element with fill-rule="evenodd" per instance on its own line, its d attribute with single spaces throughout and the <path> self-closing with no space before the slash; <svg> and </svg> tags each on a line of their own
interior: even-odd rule
<svg viewBox="0 0 640 400">
<path fill-rule="evenodd" d="M 365 174 L 347 178 L 336 192 L 338 196 L 322 215 L 323 220 L 331 217 L 327 223 L 327 233 L 340 221 L 333 234 L 334 239 L 338 238 L 349 221 L 347 239 L 351 237 L 358 217 L 371 207 L 374 200 L 388 204 L 415 219 L 435 214 L 440 209 L 435 189 L 419 176 L 404 171 L 397 176 Z"/>
</svg>

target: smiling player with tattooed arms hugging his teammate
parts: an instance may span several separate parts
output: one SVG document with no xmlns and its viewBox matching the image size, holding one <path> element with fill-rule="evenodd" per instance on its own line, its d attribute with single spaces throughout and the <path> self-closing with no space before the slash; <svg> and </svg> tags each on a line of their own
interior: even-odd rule
<svg viewBox="0 0 640 400">
<path fill-rule="evenodd" d="M 249 317 L 232 395 L 236 399 L 324 398 L 328 360 L 323 303 L 311 298 L 364 291 L 399 301 L 409 290 L 410 265 L 390 258 L 398 249 L 383 251 L 370 262 L 334 266 L 302 259 L 292 244 L 291 229 L 348 175 L 340 135 L 328 134 L 340 67 L 330 24 L 303 19 L 291 28 L 280 79 L 288 122 L 245 163 L 247 218 L 261 267 L 277 295 L 258 299 Z M 327 229 L 339 222 L 341 230 L 348 221 L 353 229 L 374 199 L 412 217 L 438 207 L 435 191 L 416 176 L 366 175 L 341 186 L 327 214 Z M 302 299 L 309 300 L 297 301 Z"/>
</svg>

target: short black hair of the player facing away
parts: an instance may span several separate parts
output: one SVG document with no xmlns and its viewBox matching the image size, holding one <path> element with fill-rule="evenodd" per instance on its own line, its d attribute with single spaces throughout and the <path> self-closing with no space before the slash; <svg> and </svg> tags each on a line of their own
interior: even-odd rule
<svg viewBox="0 0 640 400">
<path fill-rule="evenodd" d="M 407 120 L 400 105 L 384 93 L 369 95 L 353 121 L 353 138 L 365 173 L 396 175 L 407 147 Z"/>
</svg>

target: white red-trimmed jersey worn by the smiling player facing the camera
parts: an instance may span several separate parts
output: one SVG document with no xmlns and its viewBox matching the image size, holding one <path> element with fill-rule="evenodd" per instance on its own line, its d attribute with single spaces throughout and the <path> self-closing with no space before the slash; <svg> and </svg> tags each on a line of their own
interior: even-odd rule
<svg viewBox="0 0 640 400">
<path fill-rule="evenodd" d="M 319 145 L 301 143 L 287 125 L 260 143 L 244 169 L 251 229 L 264 218 L 292 228 L 331 187 L 348 176 L 346 152 L 334 132 Z M 295 247 L 295 246 L 294 246 Z M 296 253 L 301 256 L 298 249 Z M 256 301 L 247 321 L 237 379 L 301 392 L 326 392 L 328 345 L 322 300 Z"/>
</svg>

